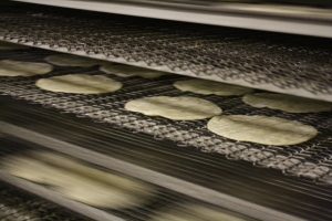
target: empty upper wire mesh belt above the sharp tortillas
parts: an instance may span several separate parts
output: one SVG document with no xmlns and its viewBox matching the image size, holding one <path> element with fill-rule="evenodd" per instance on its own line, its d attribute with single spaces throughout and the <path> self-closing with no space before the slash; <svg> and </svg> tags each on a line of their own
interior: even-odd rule
<svg viewBox="0 0 332 221">
<path fill-rule="evenodd" d="M 0 13 L 6 41 L 332 101 L 331 40 L 42 7 Z"/>
</svg>

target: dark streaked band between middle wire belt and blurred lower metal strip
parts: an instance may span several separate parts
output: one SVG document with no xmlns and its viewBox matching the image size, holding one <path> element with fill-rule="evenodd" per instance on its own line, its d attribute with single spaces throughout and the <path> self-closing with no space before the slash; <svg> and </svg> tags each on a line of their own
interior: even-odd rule
<svg viewBox="0 0 332 221">
<path fill-rule="evenodd" d="M 332 190 L 329 186 L 282 177 L 273 170 L 251 168 L 247 162 L 228 160 L 216 154 L 174 147 L 174 144 L 166 140 L 154 140 L 151 136 L 131 134 L 107 124 L 92 123 L 89 118 L 59 115 L 56 110 L 51 112 L 39 105 L 24 105 L 22 102 L 15 104 L 9 101 L 7 104 L 9 108 L 6 112 L 6 120 L 55 139 L 69 140 L 103 156 L 113 156 L 308 220 L 330 220 L 332 217 Z M 33 141 L 34 136 L 31 138 Z M 13 140 L 17 141 L 17 138 Z M 48 144 L 46 139 L 42 145 Z M 63 146 L 63 148 L 72 147 Z M 71 155 L 77 156 L 76 151 L 73 150 Z M 79 151 L 86 152 L 86 150 Z M 123 171 L 123 168 L 120 168 L 120 171 Z M 134 171 L 136 170 L 129 173 Z M 197 193 L 194 193 L 195 198 Z"/>
</svg>

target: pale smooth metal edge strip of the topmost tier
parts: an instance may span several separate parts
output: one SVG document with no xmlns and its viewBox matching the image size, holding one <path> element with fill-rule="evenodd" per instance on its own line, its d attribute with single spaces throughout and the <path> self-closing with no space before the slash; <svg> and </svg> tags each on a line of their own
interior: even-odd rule
<svg viewBox="0 0 332 221">
<path fill-rule="evenodd" d="M 320 22 L 305 22 L 298 20 L 281 20 L 278 18 L 259 18 L 228 14 L 225 12 L 207 13 L 196 11 L 177 11 L 172 9 L 162 9 L 153 7 L 139 7 L 121 4 L 114 2 L 90 2 L 81 0 L 14 0 L 28 3 L 38 3 L 44 6 L 65 7 L 72 9 L 117 13 L 135 17 L 165 19 L 174 21 L 235 27 L 242 29 L 253 29 L 273 32 L 286 32 L 292 34 L 303 34 L 312 36 L 332 38 L 332 25 Z"/>
</svg>

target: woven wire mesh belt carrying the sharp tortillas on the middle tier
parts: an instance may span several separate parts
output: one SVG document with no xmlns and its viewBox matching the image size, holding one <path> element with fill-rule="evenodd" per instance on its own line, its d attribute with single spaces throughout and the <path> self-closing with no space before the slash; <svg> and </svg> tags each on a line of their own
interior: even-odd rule
<svg viewBox="0 0 332 221">
<path fill-rule="evenodd" d="M 19 57 L 23 61 L 42 61 L 49 52 L 8 53 L 3 57 Z M 18 54 L 21 54 L 18 56 Z M 0 59 L 2 57 L 0 56 Z M 73 69 L 56 67 L 45 75 L 62 75 L 66 73 L 102 74 L 96 67 Z M 230 159 L 250 161 L 256 166 L 282 170 L 286 175 L 305 177 L 308 179 L 332 183 L 332 114 L 289 114 L 268 108 L 250 107 L 240 97 L 220 98 L 183 93 L 172 86 L 173 82 L 184 76 L 164 76 L 148 81 L 138 77 L 121 78 L 124 87 L 113 94 L 73 95 L 52 93 L 39 90 L 33 77 L 1 77 L 0 94 L 9 95 L 29 103 L 41 104 L 44 107 L 56 108 L 62 113 L 75 114 L 77 117 L 89 117 L 95 122 L 111 124 L 114 127 L 126 128 L 133 133 L 144 133 L 155 139 L 173 140 L 180 147 L 194 147 L 205 152 L 218 152 Z M 190 95 L 203 97 L 219 105 L 225 114 L 267 115 L 286 119 L 299 120 L 314 126 L 320 134 L 310 141 L 291 147 L 278 147 L 234 141 L 216 136 L 206 128 L 207 120 L 179 122 L 162 117 L 147 117 L 124 109 L 127 101 L 153 95 Z"/>
</svg>

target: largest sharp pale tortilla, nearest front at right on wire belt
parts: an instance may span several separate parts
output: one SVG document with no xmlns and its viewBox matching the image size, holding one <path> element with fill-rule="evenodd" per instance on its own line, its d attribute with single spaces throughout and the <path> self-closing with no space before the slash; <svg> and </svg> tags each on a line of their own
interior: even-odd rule
<svg viewBox="0 0 332 221">
<path fill-rule="evenodd" d="M 278 146 L 304 143 L 318 134 L 314 127 L 299 122 L 260 115 L 216 116 L 207 128 L 230 139 Z"/>
</svg>

